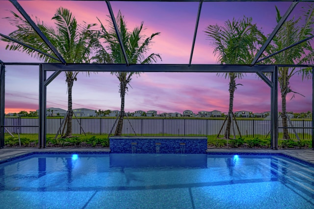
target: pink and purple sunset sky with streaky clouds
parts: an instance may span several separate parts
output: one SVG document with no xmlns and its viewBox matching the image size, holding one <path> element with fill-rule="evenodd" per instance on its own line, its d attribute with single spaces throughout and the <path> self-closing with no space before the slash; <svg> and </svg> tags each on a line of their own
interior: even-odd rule
<svg viewBox="0 0 314 209">
<path fill-rule="evenodd" d="M 188 64 L 198 2 L 126 2 L 110 1 L 114 14 L 120 10 L 125 16 L 127 27 L 132 30 L 142 21 L 146 27 L 142 35 L 160 32 L 150 48 L 150 53 L 160 54 L 160 64 Z M 99 23 L 106 26 L 108 9 L 104 1 L 19 1 L 32 17 L 53 25 L 51 20 L 60 6 L 70 9 L 78 23 Z M 204 2 L 197 31 L 192 64 L 217 64 L 205 28 L 209 24 L 223 25 L 225 21 L 243 16 L 252 17 L 253 23 L 269 34 L 276 26 L 275 5 L 284 14 L 290 2 Z M 299 17 L 302 6 L 299 3 L 292 16 Z M 5 17 L 12 16 L 15 7 L 6 0 L 0 0 L 0 33 L 8 35 L 16 28 Z M 96 18 L 97 17 L 97 18 Z M 291 18 L 290 17 L 290 18 Z M 22 52 L 5 50 L 6 43 L 0 41 L 0 60 L 9 62 L 40 62 Z M 38 66 L 6 65 L 5 113 L 35 111 L 38 109 Z M 254 113 L 270 111 L 270 88 L 255 74 L 247 73 L 237 80 L 234 98 L 235 111 Z M 125 111 L 156 110 L 157 113 L 183 113 L 191 110 L 219 110 L 228 112 L 229 81 L 222 74 L 145 72 L 133 76 L 131 87 L 125 98 Z M 290 80 L 291 89 L 305 97 L 289 93 L 287 110 L 296 113 L 312 109 L 312 80 L 303 80 L 295 75 Z M 280 93 L 279 93 L 280 94 Z M 292 99 L 291 99 L 292 98 Z M 108 72 L 80 73 L 73 87 L 73 108 L 93 110 L 120 110 L 119 81 Z M 278 98 L 281 111 L 281 97 Z M 67 109 L 67 86 L 61 73 L 47 87 L 47 108 Z"/>
</svg>

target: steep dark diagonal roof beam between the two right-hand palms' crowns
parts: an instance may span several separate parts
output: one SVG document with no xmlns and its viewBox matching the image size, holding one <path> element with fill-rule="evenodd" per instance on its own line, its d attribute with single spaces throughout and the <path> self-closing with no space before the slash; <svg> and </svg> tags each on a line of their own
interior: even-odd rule
<svg viewBox="0 0 314 209">
<path fill-rule="evenodd" d="M 285 23 L 285 21 L 287 20 L 288 16 L 293 11 L 293 9 L 295 8 L 295 6 L 297 5 L 298 2 L 299 1 L 294 1 L 294 2 L 291 3 L 291 5 L 289 6 L 288 10 L 284 14 L 284 16 L 280 19 L 280 21 L 278 22 L 278 24 L 274 28 L 273 32 L 269 35 L 268 39 L 263 44 L 263 46 L 261 47 L 260 51 L 257 53 L 256 57 L 254 58 L 254 60 L 251 63 L 252 65 L 255 65 L 257 60 L 262 56 L 262 53 L 264 52 L 266 47 L 270 44 L 271 40 L 273 40 L 273 38 L 275 37 L 275 35 L 277 34 L 277 32 L 281 28 L 281 26 Z"/>
</svg>

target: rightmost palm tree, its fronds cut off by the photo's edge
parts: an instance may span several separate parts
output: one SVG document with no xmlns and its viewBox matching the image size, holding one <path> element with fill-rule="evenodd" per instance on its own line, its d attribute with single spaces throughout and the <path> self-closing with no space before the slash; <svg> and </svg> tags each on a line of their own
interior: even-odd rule
<svg viewBox="0 0 314 209">
<path fill-rule="evenodd" d="M 282 18 L 280 11 L 277 10 L 277 22 Z M 272 43 L 265 49 L 265 55 L 270 55 L 283 48 L 291 46 L 299 41 L 302 41 L 314 34 L 314 4 L 309 5 L 308 9 L 303 8 L 304 15 L 295 19 L 294 17 L 286 21 L 279 29 L 278 33 L 274 37 Z M 266 40 L 266 37 L 262 36 L 262 41 Z M 299 45 L 293 46 L 281 53 L 278 53 L 265 60 L 265 63 L 270 64 L 313 64 L 314 63 L 314 48 L 309 41 L 303 42 Z M 302 74 L 302 78 L 311 78 L 311 69 L 309 68 L 290 68 L 279 67 L 278 68 L 278 81 L 280 85 L 280 93 L 282 99 L 282 123 L 283 127 L 288 127 L 287 122 L 287 94 L 297 93 L 291 90 L 289 85 L 290 78 L 295 74 Z M 300 93 L 298 93 L 300 94 Z M 302 95 L 302 94 L 301 94 Z M 294 94 L 293 96 L 294 97 Z M 283 138 L 290 139 L 288 129 L 283 130 Z"/>
</svg>

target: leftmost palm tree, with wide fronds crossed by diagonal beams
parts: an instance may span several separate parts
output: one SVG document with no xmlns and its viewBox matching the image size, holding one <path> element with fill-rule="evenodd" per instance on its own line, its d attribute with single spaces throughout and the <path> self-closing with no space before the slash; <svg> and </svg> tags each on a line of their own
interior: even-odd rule
<svg viewBox="0 0 314 209">
<path fill-rule="evenodd" d="M 7 19 L 12 25 L 18 27 L 17 30 L 9 34 L 15 40 L 18 40 L 28 46 L 38 49 L 46 54 L 53 55 L 52 50 L 45 44 L 40 36 L 32 29 L 18 14 L 11 11 L 13 17 Z M 72 13 L 65 8 L 58 8 L 52 20 L 55 21 L 55 26 L 52 27 L 44 24 L 37 17 L 35 18 L 36 25 L 48 38 L 53 46 L 58 50 L 67 63 L 86 63 L 90 61 L 92 46 L 96 43 L 96 31 L 92 27 L 96 24 L 79 24 Z M 31 48 L 22 46 L 8 39 L 2 38 L 8 42 L 6 49 L 18 50 L 26 52 L 26 54 L 35 57 L 44 62 L 57 62 L 49 56 L 45 56 Z M 65 71 L 67 91 L 68 91 L 68 116 L 67 129 L 64 137 L 72 136 L 72 87 L 74 81 L 77 80 L 78 71 Z"/>
</svg>

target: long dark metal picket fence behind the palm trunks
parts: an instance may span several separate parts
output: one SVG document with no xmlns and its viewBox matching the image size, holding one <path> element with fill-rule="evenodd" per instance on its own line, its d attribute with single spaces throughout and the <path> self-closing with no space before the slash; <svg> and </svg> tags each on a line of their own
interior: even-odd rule
<svg viewBox="0 0 314 209">
<path fill-rule="evenodd" d="M 115 119 L 113 118 L 78 118 L 73 119 L 73 134 L 109 134 Z M 62 118 L 47 118 L 47 134 L 56 134 Z M 170 119 L 170 118 L 139 118 L 125 119 L 122 133 L 124 135 L 138 136 L 209 136 L 217 135 L 224 120 L 212 119 Z M 291 121 L 295 131 L 300 139 L 312 139 L 312 121 L 300 120 Z M 237 120 L 241 135 L 244 137 L 270 137 L 269 120 Z M 38 118 L 5 118 L 6 129 L 13 134 L 38 134 Z M 9 127 L 20 126 L 20 127 Z M 22 126 L 22 127 L 21 127 Z M 23 127 L 24 126 L 24 127 Z M 27 127 L 28 126 L 28 127 Z M 279 126 L 282 126 L 279 121 Z M 297 127 L 303 127 L 298 129 Z M 224 134 L 226 124 L 221 132 Z M 114 129 L 113 129 L 114 131 Z M 279 129 L 279 138 L 281 138 L 283 129 Z M 290 138 L 296 139 L 293 129 L 288 128 Z M 5 131 L 6 132 L 6 131 Z M 233 131 L 231 132 L 233 134 Z M 6 134 L 8 134 L 6 132 Z M 239 133 L 235 127 L 235 135 Z"/>
</svg>

